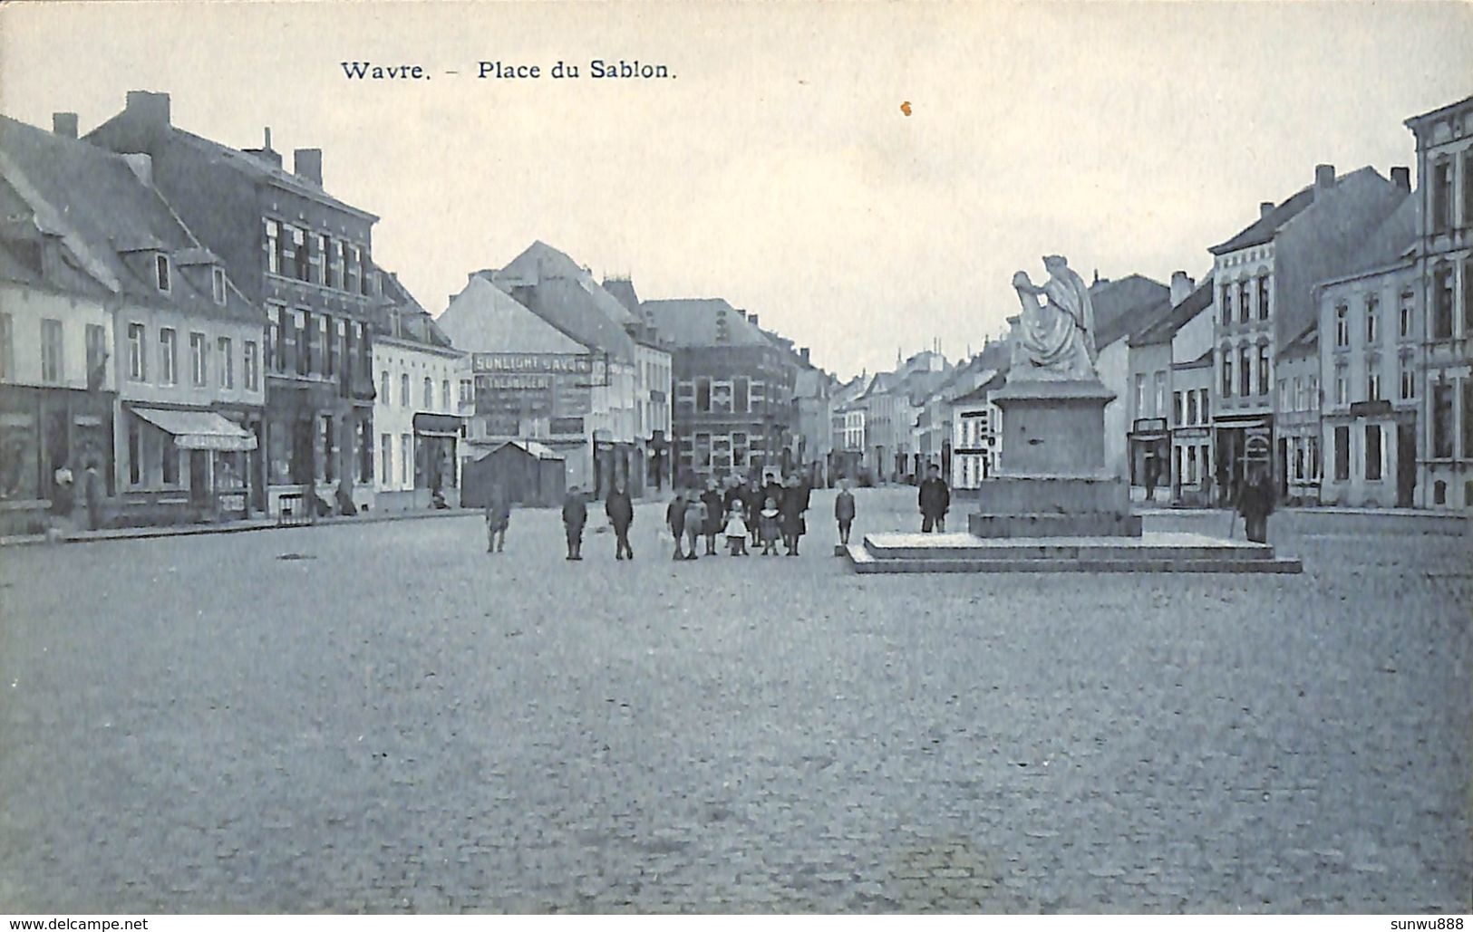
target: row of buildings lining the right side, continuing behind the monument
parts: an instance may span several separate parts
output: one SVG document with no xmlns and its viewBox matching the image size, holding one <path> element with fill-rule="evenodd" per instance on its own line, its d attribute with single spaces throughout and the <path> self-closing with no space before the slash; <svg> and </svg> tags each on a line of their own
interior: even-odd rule
<svg viewBox="0 0 1473 932">
<path fill-rule="evenodd" d="M 1473 508 L 1473 97 L 1407 119 L 1410 168 L 1312 181 L 1199 278 L 1102 281 L 1106 456 L 1155 501 L 1221 505 L 1251 462 L 1293 504 Z M 996 468 L 1008 358 L 927 350 L 835 392 L 835 459 L 879 480 Z"/>
</svg>

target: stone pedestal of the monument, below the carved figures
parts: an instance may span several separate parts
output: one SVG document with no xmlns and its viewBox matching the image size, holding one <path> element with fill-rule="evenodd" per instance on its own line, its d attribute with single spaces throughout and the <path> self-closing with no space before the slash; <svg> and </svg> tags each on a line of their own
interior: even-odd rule
<svg viewBox="0 0 1473 932">
<path fill-rule="evenodd" d="M 969 515 L 978 537 L 1139 537 L 1130 489 L 1105 468 L 1105 405 L 1097 380 L 1009 383 L 997 479 Z"/>
</svg>

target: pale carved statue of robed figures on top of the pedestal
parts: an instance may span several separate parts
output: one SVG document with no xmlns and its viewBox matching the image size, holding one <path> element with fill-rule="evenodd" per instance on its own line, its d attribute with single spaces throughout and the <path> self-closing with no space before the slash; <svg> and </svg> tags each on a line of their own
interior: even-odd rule
<svg viewBox="0 0 1473 932">
<path fill-rule="evenodd" d="M 1022 315 L 1013 331 L 1010 378 L 1091 380 L 1094 373 L 1094 306 L 1090 289 L 1064 256 L 1044 256 L 1049 281 L 1036 286 L 1028 272 L 1013 275 Z M 1038 296 L 1047 297 L 1047 303 Z"/>
</svg>

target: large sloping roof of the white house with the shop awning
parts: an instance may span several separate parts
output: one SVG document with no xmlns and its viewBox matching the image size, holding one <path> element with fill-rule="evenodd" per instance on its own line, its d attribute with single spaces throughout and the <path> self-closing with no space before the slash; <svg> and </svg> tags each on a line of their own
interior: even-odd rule
<svg viewBox="0 0 1473 932">
<path fill-rule="evenodd" d="M 158 188 L 134 174 L 125 156 L 0 116 L 0 177 L 25 203 L 29 222 L 60 236 L 75 268 L 108 292 L 143 305 L 265 321 L 265 312 L 250 305 L 228 277 L 225 303 L 219 305 L 212 283 L 174 274 L 164 293 L 152 278 L 152 266 L 125 261 L 125 253 L 158 250 L 183 266 L 218 262 Z"/>
</svg>

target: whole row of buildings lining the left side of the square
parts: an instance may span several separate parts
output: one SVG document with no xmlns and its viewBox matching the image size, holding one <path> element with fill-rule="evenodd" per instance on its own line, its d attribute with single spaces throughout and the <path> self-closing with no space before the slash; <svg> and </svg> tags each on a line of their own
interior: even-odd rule
<svg viewBox="0 0 1473 932">
<path fill-rule="evenodd" d="M 168 94 L 85 135 L 0 116 L 0 533 L 63 467 L 153 524 L 454 505 L 508 445 L 555 464 L 535 499 L 826 462 L 832 378 L 757 315 L 533 243 L 432 317 L 321 150 L 208 140 Z"/>
</svg>

